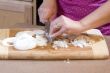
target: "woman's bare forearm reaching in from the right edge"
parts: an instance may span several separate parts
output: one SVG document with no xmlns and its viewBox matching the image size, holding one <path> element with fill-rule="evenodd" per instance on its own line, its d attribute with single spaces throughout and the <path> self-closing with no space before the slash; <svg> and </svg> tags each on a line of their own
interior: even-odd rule
<svg viewBox="0 0 110 73">
<path fill-rule="evenodd" d="M 84 26 L 84 30 L 97 28 L 110 22 L 110 0 L 104 3 L 97 10 L 81 19 L 80 22 Z"/>
</svg>

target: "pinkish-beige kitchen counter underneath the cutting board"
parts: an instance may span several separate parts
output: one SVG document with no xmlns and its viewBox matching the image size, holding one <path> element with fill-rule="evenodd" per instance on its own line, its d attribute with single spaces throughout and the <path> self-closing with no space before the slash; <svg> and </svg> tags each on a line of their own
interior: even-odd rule
<svg viewBox="0 0 110 73">
<path fill-rule="evenodd" d="M 110 36 L 105 36 L 105 39 L 110 51 Z M 0 73 L 110 73 L 110 58 L 70 61 L 0 60 Z"/>
</svg>

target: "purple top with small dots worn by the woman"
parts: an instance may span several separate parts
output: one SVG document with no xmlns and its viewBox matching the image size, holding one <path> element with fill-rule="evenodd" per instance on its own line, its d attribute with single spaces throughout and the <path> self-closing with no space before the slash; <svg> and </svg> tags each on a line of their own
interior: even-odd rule
<svg viewBox="0 0 110 73">
<path fill-rule="evenodd" d="M 57 0 L 58 16 L 65 15 L 73 20 L 80 20 L 93 12 L 107 0 Z M 110 35 L 110 24 L 99 27 L 104 35 Z"/>
</svg>

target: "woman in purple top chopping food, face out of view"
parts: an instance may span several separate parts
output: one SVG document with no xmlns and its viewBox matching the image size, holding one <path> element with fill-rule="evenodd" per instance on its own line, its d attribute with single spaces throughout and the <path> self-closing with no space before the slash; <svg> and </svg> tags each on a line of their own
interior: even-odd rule
<svg viewBox="0 0 110 73">
<path fill-rule="evenodd" d="M 38 13 L 42 23 L 51 22 L 52 37 L 92 28 L 110 35 L 110 0 L 43 0 Z"/>
</svg>

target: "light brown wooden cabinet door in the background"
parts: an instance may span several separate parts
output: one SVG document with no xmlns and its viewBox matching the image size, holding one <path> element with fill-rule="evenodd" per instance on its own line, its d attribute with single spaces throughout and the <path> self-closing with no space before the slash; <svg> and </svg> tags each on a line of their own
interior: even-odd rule
<svg viewBox="0 0 110 73">
<path fill-rule="evenodd" d="M 32 14 L 31 2 L 0 0 L 0 26 L 32 25 Z"/>
</svg>

